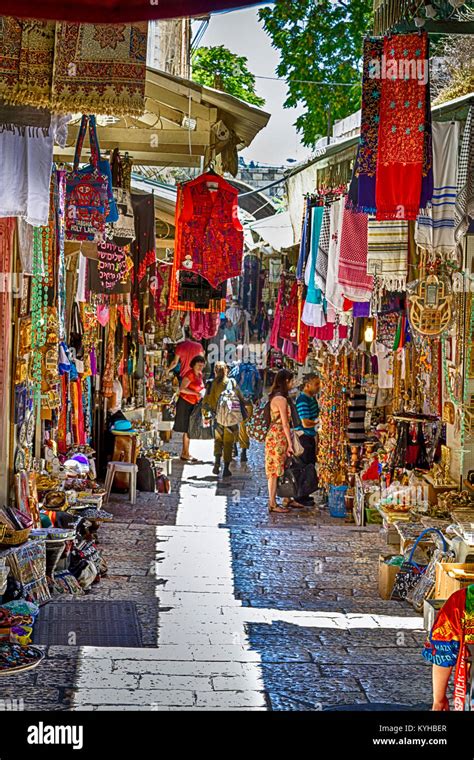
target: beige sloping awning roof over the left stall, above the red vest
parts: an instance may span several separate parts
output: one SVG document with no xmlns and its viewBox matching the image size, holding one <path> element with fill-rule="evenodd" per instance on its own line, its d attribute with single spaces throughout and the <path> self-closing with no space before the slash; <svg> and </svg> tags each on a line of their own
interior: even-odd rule
<svg viewBox="0 0 474 760">
<path fill-rule="evenodd" d="M 140 118 L 98 117 L 102 151 L 120 148 L 135 165 L 199 168 L 221 157 L 224 171 L 237 169 L 237 151 L 250 145 L 270 114 L 238 98 L 162 71 L 147 69 L 146 111 Z M 74 156 L 80 115 L 69 127 L 68 144 L 55 158 Z M 85 146 L 83 155 L 88 155 Z"/>
</svg>

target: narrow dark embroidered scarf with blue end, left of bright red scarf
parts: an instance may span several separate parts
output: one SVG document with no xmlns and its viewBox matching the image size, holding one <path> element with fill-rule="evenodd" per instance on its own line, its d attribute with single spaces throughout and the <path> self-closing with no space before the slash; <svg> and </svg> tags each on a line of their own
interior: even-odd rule
<svg viewBox="0 0 474 760">
<path fill-rule="evenodd" d="M 375 175 L 382 78 L 375 77 L 374 70 L 378 64 L 380 71 L 382 53 L 383 39 L 368 37 L 364 40 L 360 140 L 354 174 L 357 176 L 355 208 L 368 214 L 375 214 Z"/>
</svg>

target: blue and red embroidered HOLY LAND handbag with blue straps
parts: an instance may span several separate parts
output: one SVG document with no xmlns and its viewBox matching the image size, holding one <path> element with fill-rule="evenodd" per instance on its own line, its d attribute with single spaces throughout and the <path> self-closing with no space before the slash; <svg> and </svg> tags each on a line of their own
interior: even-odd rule
<svg viewBox="0 0 474 760">
<path fill-rule="evenodd" d="M 89 125 L 91 163 L 79 169 L 85 133 Z M 105 236 L 106 218 L 110 213 L 112 190 L 108 175 L 99 166 L 100 152 L 95 131 L 95 117 L 84 115 L 77 138 L 74 168 L 66 175 L 65 239 L 100 242 Z M 108 161 L 102 164 L 110 165 Z"/>
</svg>

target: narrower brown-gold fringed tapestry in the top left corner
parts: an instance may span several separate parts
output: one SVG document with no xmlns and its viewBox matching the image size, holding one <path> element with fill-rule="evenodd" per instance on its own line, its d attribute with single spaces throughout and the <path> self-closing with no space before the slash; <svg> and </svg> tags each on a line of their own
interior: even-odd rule
<svg viewBox="0 0 474 760">
<path fill-rule="evenodd" d="M 0 98 L 6 103 L 50 105 L 55 28 L 50 21 L 0 17 Z"/>
</svg>

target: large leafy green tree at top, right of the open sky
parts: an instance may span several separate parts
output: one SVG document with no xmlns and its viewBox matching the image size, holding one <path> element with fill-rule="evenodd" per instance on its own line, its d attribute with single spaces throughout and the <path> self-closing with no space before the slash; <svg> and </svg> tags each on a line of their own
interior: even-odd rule
<svg viewBox="0 0 474 760">
<path fill-rule="evenodd" d="M 280 51 L 276 73 L 288 83 L 285 107 L 305 107 L 296 120 L 304 145 L 327 134 L 329 107 L 332 122 L 360 107 L 362 42 L 372 6 L 373 0 L 279 0 L 260 10 Z"/>
</svg>

